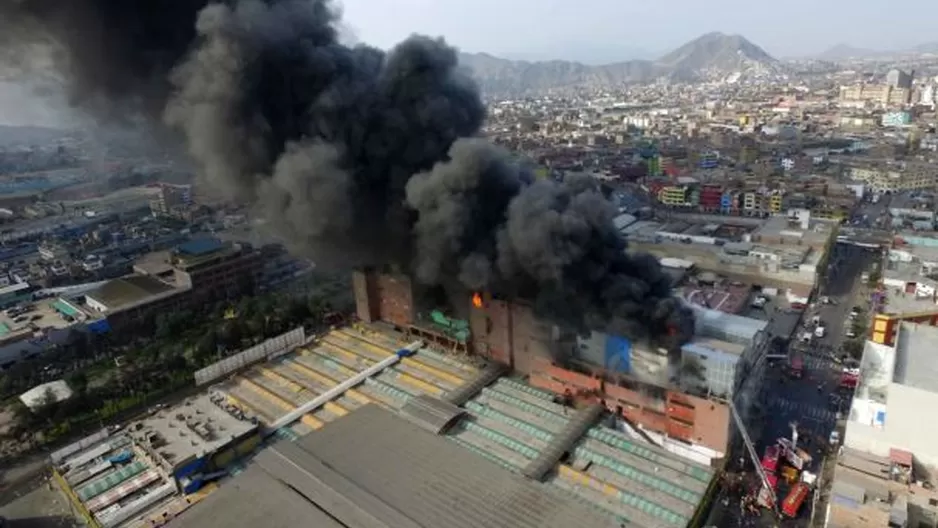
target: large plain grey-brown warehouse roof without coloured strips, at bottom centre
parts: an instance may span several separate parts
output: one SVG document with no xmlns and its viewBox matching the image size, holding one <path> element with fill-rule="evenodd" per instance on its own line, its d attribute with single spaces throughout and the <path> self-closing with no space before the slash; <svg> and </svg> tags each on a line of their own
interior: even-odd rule
<svg viewBox="0 0 938 528">
<path fill-rule="evenodd" d="M 255 464 L 286 484 L 263 494 L 302 495 L 347 526 L 618 526 L 611 516 L 589 504 L 506 471 L 376 405 L 366 405 L 297 443 L 277 444 L 260 453 Z M 285 500 L 259 498 L 260 494 L 242 493 L 243 501 Z M 286 508 L 282 513 L 273 511 L 264 517 L 264 524 L 284 526 L 295 514 Z M 200 528 L 205 524 L 231 526 L 226 515 L 204 515 L 192 524 L 172 526 L 197 526 L 195 522 Z M 239 521 L 243 524 L 243 519 Z"/>
</svg>

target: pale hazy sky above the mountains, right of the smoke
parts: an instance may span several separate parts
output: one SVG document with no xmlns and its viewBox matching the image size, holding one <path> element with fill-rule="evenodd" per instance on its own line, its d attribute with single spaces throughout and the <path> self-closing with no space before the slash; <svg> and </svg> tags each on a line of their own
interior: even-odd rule
<svg viewBox="0 0 938 528">
<path fill-rule="evenodd" d="M 907 0 L 342 0 L 361 40 L 412 32 L 465 51 L 588 62 L 669 51 L 703 33 L 738 33 L 778 57 L 847 43 L 901 49 L 938 41 L 938 1 Z M 901 9 L 897 9 L 901 5 Z M 901 11 L 901 12 L 900 12 Z"/>
</svg>

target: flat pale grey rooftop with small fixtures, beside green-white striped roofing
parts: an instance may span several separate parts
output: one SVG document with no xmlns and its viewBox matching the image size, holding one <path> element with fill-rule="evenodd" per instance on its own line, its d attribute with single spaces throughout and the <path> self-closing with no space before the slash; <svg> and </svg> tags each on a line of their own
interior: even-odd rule
<svg viewBox="0 0 938 528">
<path fill-rule="evenodd" d="M 218 396 L 200 394 L 178 405 L 160 409 L 142 420 L 128 424 L 128 430 L 141 440 L 156 433 L 161 446 L 155 452 L 170 467 L 190 458 L 211 453 L 240 438 L 257 426 L 238 418 L 225 409 L 226 402 Z"/>
</svg>

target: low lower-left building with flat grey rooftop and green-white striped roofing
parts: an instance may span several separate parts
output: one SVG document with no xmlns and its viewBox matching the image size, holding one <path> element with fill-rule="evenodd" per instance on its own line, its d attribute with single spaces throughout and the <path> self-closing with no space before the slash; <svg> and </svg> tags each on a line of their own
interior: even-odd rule
<svg viewBox="0 0 938 528">
<path fill-rule="evenodd" d="M 153 526 L 200 501 L 203 486 L 259 443 L 257 425 L 242 411 L 202 394 L 50 458 L 53 477 L 86 526 Z"/>
</svg>

